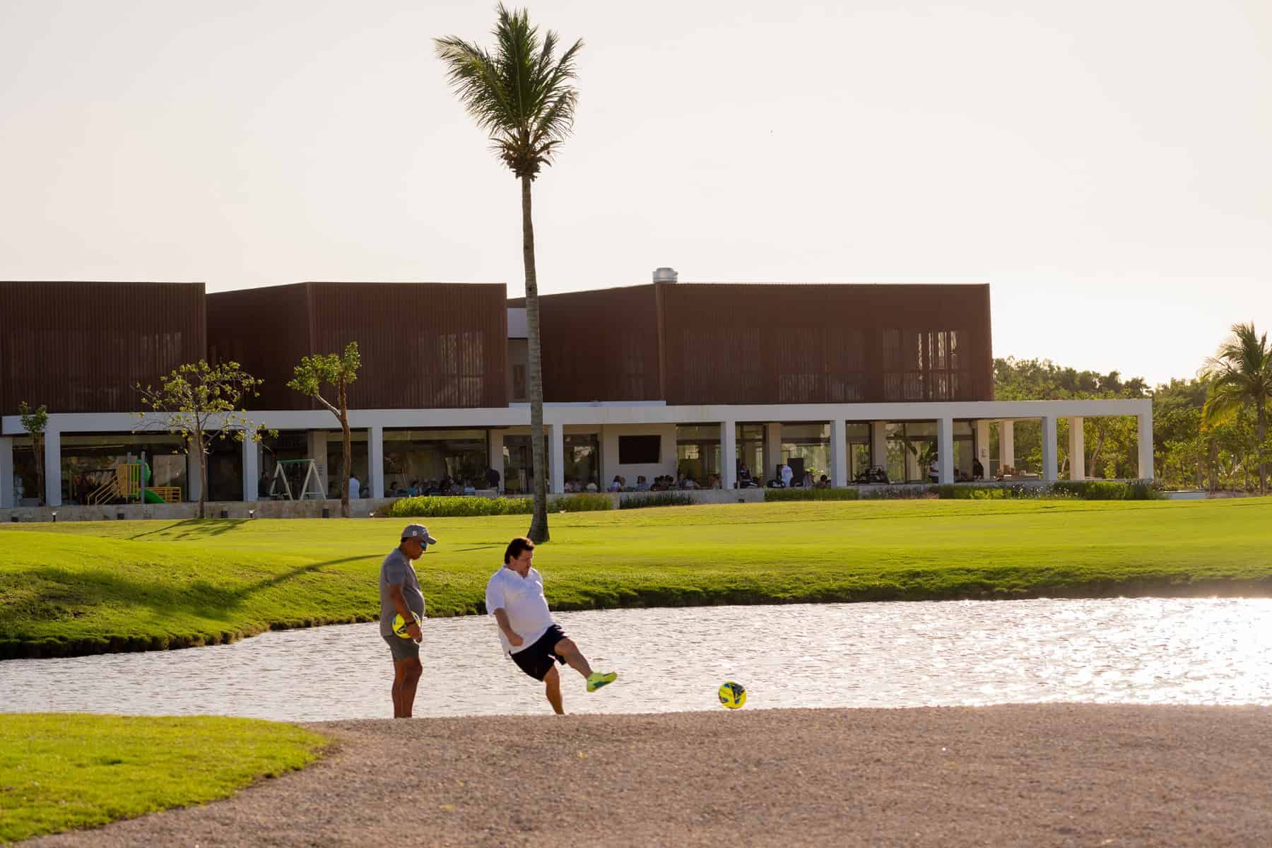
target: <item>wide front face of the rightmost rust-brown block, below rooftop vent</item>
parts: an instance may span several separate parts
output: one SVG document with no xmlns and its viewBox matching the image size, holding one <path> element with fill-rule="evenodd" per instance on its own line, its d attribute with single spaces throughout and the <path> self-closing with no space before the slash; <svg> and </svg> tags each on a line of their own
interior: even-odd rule
<svg viewBox="0 0 1272 848">
<path fill-rule="evenodd" d="M 659 289 L 672 404 L 993 397 L 988 286 Z"/>
</svg>

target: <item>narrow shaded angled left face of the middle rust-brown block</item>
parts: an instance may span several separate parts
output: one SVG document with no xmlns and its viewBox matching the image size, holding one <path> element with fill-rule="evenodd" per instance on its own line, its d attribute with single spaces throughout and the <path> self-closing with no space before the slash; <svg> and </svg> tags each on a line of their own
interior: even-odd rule
<svg viewBox="0 0 1272 848">
<path fill-rule="evenodd" d="M 238 362 L 265 380 L 249 409 L 310 409 L 315 402 L 287 388 L 293 369 L 310 352 L 305 284 L 207 295 L 207 357 Z"/>
</svg>

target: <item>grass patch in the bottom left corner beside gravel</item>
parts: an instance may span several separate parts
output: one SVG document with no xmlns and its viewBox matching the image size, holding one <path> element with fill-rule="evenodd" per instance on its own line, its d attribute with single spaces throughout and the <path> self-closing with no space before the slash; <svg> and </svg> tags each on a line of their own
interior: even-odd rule
<svg viewBox="0 0 1272 848">
<path fill-rule="evenodd" d="M 224 798 L 324 745 L 251 718 L 0 715 L 0 843 Z"/>
</svg>

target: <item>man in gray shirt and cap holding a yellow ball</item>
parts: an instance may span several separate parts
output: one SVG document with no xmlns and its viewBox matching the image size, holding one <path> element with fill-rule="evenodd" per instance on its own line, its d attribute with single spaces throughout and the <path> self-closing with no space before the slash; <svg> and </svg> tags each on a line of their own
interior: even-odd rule
<svg viewBox="0 0 1272 848">
<path fill-rule="evenodd" d="M 393 717 L 410 718 L 415 706 L 415 687 L 420 683 L 420 642 L 424 636 L 416 618 L 424 619 L 424 592 L 411 563 L 424 556 L 425 548 L 438 544 L 422 524 L 408 524 L 402 530 L 398 547 L 380 564 L 380 636 L 393 655 Z M 406 627 L 393 629 L 393 618 L 401 615 Z"/>
</svg>

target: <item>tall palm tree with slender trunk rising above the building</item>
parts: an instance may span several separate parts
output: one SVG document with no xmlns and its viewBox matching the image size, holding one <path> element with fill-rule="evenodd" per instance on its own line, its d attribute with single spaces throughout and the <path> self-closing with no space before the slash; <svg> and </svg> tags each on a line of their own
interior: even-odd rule
<svg viewBox="0 0 1272 848">
<path fill-rule="evenodd" d="M 543 450 L 543 370 L 539 357 L 539 285 L 534 272 L 530 184 L 574 127 L 579 92 L 574 60 L 583 41 L 556 56 L 557 34 L 539 39 L 529 14 L 496 8 L 495 48 L 487 52 L 454 36 L 436 38 L 450 85 L 468 114 L 490 137 L 491 149 L 522 181 L 522 258 L 525 264 L 525 319 L 529 331 L 530 451 L 534 463 L 534 517 L 529 537 L 548 540 L 547 456 Z"/>
</svg>

